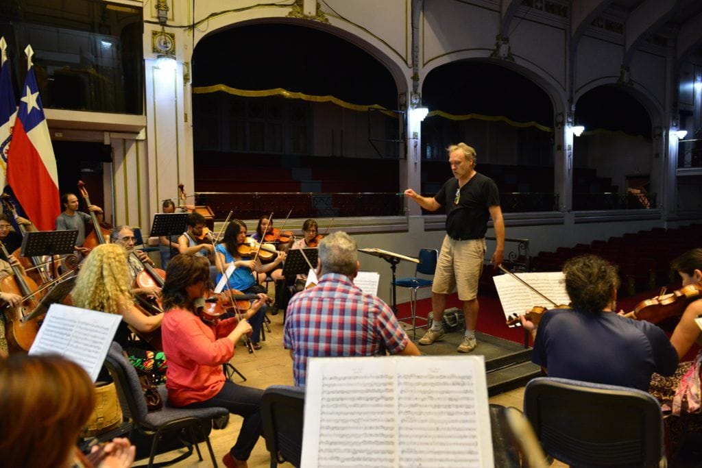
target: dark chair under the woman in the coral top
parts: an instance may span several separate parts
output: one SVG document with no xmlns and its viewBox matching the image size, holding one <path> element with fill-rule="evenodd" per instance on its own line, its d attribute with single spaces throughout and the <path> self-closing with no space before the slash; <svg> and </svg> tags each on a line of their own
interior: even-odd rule
<svg viewBox="0 0 702 468">
<path fill-rule="evenodd" d="M 190 437 L 190 441 L 185 441 L 185 443 L 189 445 L 192 441 L 200 461 L 202 461 L 202 454 L 197 441 L 204 440 L 212 458 L 212 466 L 217 467 L 217 461 L 212 451 L 208 433 L 204 430 L 204 424 L 212 424 L 213 419 L 228 415 L 229 410 L 227 408 L 173 408 L 168 406 L 168 391 L 166 387 L 160 385 L 159 394 L 164 406 L 159 410 L 149 412 L 144 392 L 139 382 L 139 376 L 135 368 L 124 356 L 122 347 L 117 342 L 112 342 L 105 358 L 105 366 L 107 366 L 107 370 L 110 370 L 112 380 L 117 386 L 122 413 L 131 420 L 133 430 L 145 436 L 152 436 L 148 467 L 154 466 L 154 457 L 157 454 L 159 441 L 164 437 L 164 434 L 176 430 L 185 430 L 187 436 Z M 199 439 L 197 438 L 198 435 Z M 185 454 L 166 464 L 171 464 L 190 456 L 192 454 L 192 446 L 188 448 L 189 450 Z"/>
</svg>

